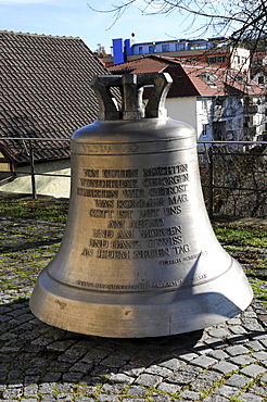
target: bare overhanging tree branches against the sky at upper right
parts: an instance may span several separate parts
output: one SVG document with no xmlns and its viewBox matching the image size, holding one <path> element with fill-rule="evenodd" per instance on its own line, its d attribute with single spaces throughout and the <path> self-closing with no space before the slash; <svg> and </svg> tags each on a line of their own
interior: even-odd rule
<svg viewBox="0 0 267 402">
<path fill-rule="evenodd" d="M 265 0 L 124 0 L 107 10 L 97 10 L 90 3 L 88 7 L 97 12 L 111 13 L 113 26 L 134 4 L 138 5 L 142 15 L 177 12 L 192 30 L 196 18 L 203 18 L 202 28 L 198 28 L 199 35 L 213 32 L 215 36 L 228 37 L 232 46 L 250 43 L 252 51 L 267 36 Z"/>
</svg>

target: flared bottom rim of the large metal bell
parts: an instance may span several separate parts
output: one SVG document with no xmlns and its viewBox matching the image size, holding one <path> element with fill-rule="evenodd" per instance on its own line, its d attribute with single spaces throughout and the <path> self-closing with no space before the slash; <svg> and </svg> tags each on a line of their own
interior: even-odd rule
<svg viewBox="0 0 267 402">
<path fill-rule="evenodd" d="M 173 291 L 104 292 L 53 280 L 44 269 L 30 298 L 42 322 L 74 332 L 114 338 L 160 337 L 203 329 L 244 311 L 253 293 L 236 260 L 221 276 Z"/>
</svg>

